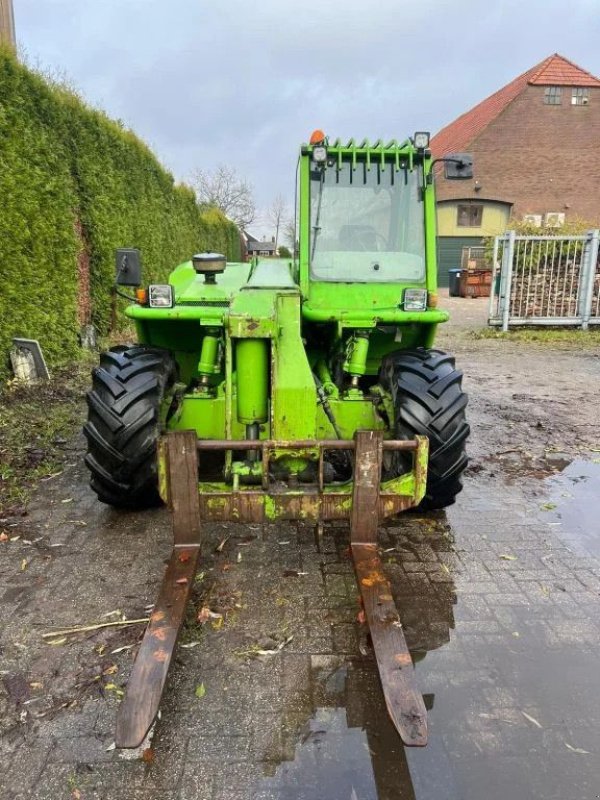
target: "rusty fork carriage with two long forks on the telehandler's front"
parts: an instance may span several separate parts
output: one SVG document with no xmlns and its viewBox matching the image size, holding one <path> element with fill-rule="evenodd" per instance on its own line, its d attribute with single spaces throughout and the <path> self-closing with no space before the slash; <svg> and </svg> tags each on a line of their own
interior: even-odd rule
<svg viewBox="0 0 600 800">
<path fill-rule="evenodd" d="M 269 454 L 282 449 L 319 451 L 319 480 L 307 491 L 268 486 L 226 493 L 198 483 L 199 454 L 207 451 L 254 450 L 266 466 Z M 344 491 L 327 491 L 322 479 L 323 453 L 345 450 L 354 454 L 354 477 Z M 381 483 L 383 452 L 407 451 L 414 469 L 402 479 Z M 414 666 L 398 611 L 377 551 L 380 520 L 417 505 L 425 492 L 428 442 L 384 440 L 381 431 L 357 431 L 353 440 L 201 441 L 194 431 L 169 433 L 161 440 L 159 463 L 161 492 L 173 516 L 173 549 L 159 597 L 135 660 L 125 699 L 117 717 L 118 747 L 138 747 L 158 712 L 169 667 L 177 645 L 186 607 L 201 555 L 202 521 L 265 522 L 301 519 L 319 525 L 324 520 L 348 519 L 352 558 L 365 616 L 369 625 L 381 685 L 390 717 L 408 746 L 427 743 L 427 713 L 416 688 Z M 268 475 L 268 470 L 263 474 Z M 393 484 L 393 486 L 391 486 Z M 398 489 L 410 494 L 397 493 Z M 391 489 L 396 489 L 396 492 Z"/>
</svg>

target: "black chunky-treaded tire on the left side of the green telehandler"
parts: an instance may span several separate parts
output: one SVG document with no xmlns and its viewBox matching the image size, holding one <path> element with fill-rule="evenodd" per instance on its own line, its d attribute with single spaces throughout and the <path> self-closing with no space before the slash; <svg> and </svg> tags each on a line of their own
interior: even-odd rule
<svg viewBox="0 0 600 800">
<path fill-rule="evenodd" d="M 176 374 L 176 363 L 165 350 L 117 347 L 100 356 L 83 432 L 90 486 L 103 503 L 117 508 L 160 503 L 156 444 L 162 405 Z"/>
</svg>

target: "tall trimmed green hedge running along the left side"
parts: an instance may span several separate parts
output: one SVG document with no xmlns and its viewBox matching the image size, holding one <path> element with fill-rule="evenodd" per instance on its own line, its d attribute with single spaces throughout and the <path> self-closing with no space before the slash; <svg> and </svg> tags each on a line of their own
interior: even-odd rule
<svg viewBox="0 0 600 800">
<path fill-rule="evenodd" d="M 50 364 L 77 355 L 80 261 L 104 334 L 115 248 L 140 248 L 145 283 L 197 250 L 240 259 L 236 226 L 200 208 L 131 131 L 3 50 L 0 198 L 0 376 L 13 336 L 39 339 Z"/>
</svg>

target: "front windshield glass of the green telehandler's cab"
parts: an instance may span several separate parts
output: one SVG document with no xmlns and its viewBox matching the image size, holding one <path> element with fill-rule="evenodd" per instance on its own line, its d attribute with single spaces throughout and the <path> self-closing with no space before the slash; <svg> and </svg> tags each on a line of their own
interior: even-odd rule
<svg viewBox="0 0 600 800">
<path fill-rule="evenodd" d="M 422 167 L 342 162 L 310 173 L 310 268 L 319 281 L 425 278 Z"/>
</svg>

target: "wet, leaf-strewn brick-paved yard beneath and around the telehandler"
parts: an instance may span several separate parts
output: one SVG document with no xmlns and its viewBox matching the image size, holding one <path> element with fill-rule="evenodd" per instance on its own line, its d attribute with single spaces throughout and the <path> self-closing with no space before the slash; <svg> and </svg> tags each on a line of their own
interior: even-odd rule
<svg viewBox="0 0 600 800">
<path fill-rule="evenodd" d="M 507 381 L 522 362 L 496 345 L 458 346 L 474 426 L 459 502 L 447 516 L 408 515 L 382 531 L 431 707 L 425 750 L 405 752 L 387 722 L 355 621 L 346 529 L 330 529 L 319 553 L 302 525 L 207 529 L 195 604 L 226 622 L 200 629 L 190 613 L 183 642 L 192 646 L 179 650 L 147 760 L 111 749 L 132 663 L 131 650 L 112 651 L 140 629 L 63 645 L 41 634 L 115 609 L 143 616 L 169 551 L 169 519 L 97 504 L 75 451 L 73 465 L 42 484 L 30 516 L 4 528 L 21 538 L 0 545 L 1 800 L 600 796 L 600 531 L 581 531 L 577 509 L 560 516 L 547 506 L 571 502 L 568 483 L 537 477 L 549 472 L 540 464 L 550 443 L 571 456 L 590 446 L 584 434 L 563 441 L 550 412 L 560 413 L 564 395 L 548 375 L 568 364 L 582 392 L 597 394 L 598 360 L 535 351 L 530 399 L 513 401 L 513 416 L 499 422 L 495 401 L 508 414 Z M 507 432 L 520 443 L 503 460 L 495 453 Z M 595 466 L 591 487 L 600 485 Z M 252 657 L 290 636 L 276 654 Z"/>
</svg>

